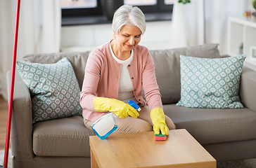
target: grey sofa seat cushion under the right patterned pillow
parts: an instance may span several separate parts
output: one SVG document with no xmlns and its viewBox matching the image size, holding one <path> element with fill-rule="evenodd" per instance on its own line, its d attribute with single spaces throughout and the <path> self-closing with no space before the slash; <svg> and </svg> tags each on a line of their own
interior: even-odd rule
<svg viewBox="0 0 256 168">
<path fill-rule="evenodd" d="M 196 109 L 163 106 L 177 129 L 186 129 L 202 145 L 256 139 L 256 112 L 250 109 Z"/>
</svg>

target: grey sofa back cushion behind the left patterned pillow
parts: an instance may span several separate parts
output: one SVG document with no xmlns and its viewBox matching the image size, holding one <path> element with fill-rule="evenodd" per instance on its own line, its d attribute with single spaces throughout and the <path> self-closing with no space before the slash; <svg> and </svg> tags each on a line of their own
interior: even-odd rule
<svg viewBox="0 0 256 168">
<path fill-rule="evenodd" d="M 22 59 L 25 62 L 41 63 L 41 64 L 53 64 L 58 60 L 67 57 L 73 66 L 77 82 L 80 90 L 82 90 L 82 83 L 84 81 L 84 70 L 87 64 L 87 59 L 90 51 L 87 52 L 58 52 L 58 53 L 44 53 L 44 54 L 30 54 L 25 55 Z"/>
</svg>

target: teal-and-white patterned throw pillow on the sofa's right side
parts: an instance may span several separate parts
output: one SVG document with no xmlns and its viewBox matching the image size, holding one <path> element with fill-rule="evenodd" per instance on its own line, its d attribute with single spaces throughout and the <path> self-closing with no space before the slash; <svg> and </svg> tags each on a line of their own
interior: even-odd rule
<svg viewBox="0 0 256 168">
<path fill-rule="evenodd" d="M 207 109 L 243 108 L 239 88 L 245 57 L 209 59 L 180 55 L 181 99 L 176 105 Z"/>
</svg>

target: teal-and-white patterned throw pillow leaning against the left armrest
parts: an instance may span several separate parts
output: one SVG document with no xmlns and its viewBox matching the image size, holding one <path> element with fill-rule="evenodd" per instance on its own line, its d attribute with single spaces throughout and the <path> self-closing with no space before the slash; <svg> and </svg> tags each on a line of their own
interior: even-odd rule
<svg viewBox="0 0 256 168">
<path fill-rule="evenodd" d="M 17 68 L 30 89 L 33 124 L 82 115 L 80 88 L 68 58 L 64 57 L 55 64 L 17 61 Z"/>
</svg>

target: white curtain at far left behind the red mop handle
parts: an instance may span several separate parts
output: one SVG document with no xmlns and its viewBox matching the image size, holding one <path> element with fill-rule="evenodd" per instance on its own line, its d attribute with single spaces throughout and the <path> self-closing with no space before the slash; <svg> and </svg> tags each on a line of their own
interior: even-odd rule
<svg viewBox="0 0 256 168">
<path fill-rule="evenodd" d="M 7 99 L 6 72 L 11 70 L 16 0 L 0 1 L 0 91 Z M 59 0 L 21 0 L 17 60 L 23 55 L 60 51 Z M 18 71 L 16 71 L 18 73 Z"/>
</svg>

